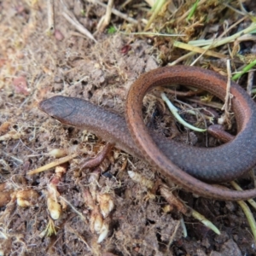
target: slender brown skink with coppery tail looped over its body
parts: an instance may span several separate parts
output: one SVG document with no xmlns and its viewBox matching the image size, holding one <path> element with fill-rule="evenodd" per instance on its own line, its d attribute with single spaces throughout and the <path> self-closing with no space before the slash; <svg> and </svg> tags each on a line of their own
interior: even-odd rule
<svg viewBox="0 0 256 256">
<path fill-rule="evenodd" d="M 39 108 L 64 125 L 92 131 L 117 148 L 147 160 L 174 183 L 197 195 L 228 201 L 256 196 L 256 189 L 233 191 L 208 184 L 233 180 L 256 164 L 256 105 L 250 96 L 238 84 L 231 83 L 238 128 L 235 139 L 216 148 L 196 148 L 148 131 L 143 123 L 143 97 L 154 87 L 168 84 L 192 85 L 224 100 L 227 79 L 186 66 L 160 67 L 144 73 L 129 90 L 126 122 L 116 113 L 73 97 L 54 96 L 40 102 Z"/>
</svg>

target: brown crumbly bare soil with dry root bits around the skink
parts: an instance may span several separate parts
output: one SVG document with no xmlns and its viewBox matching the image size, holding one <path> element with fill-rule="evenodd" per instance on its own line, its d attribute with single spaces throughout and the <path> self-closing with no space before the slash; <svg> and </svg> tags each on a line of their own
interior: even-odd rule
<svg viewBox="0 0 256 256">
<path fill-rule="evenodd" d="M 55 32 L 49 30 L 46 1 L 0 2 L 0 254 L 256 255 L 252 231 L 236 202 L 197 198 L 174 188 L 221 232 L 217 235 L 195 218 L 183 216 L 188 232 L 184 237 L 182 214 L 171 211 L 159 189 L 148 189 L 143 179 L 161 180 L 170 191 L 171 183 L 142 160 L 114 148 L 101 171 L 98 167 L 80 170 L 84 158 L 94 157 L 104 142 L 89 131 L 49 118 L 39 111 L 38 102 L 55 95 L 73 96 L 124 115 L 125 96 L 138 76 L 177 59 L 183 51 L 173 49 L 170 39 L 129 34 L 135 25 L 115 15 L 108 28 L 126 34 L 109 29 L 96 32 L 105 9 L 96 3 L 67 2 L 55 2 Z M 118 8 L 125 1 L 116 2 Z M 227 9 L 215 2 L 212 9 L 227 15 Z M 136 20 L 147 18 L 147 4 L 140 3 L 140 11 L 136 4 L 131 1 L 119 10 Z M 236 1 L 230 4 L 237 8 Z M 63 15 L 67 9 L 95 32 L 97 43 L 67 21 Z M 236 20 L 235 12 L 229 14 L 234 15 L 230 20 Z M 213 15 L 216 22 L 218 15 Z M 201 30 L 203 26 L 201 22 Z M 214 65 L 207 66 L 217 69 L 220 64 Z M 149 119 L 160 112 L 156 126 L 161 131 L 166 132 L 167 120 L 171 123 L 167 130 L 175 139 L 188 140 L 188 132 L 165 113 L 157 95 L 147 96 L 146 107 Z M 197 145 L 205 143 L 194 132 L 190 139 Z M 61 165 L 61 171 L 49 168 L 28 175 L 55 161 L 49 154 L 54 148 L 66 150 L 67 155 L 79 148 L 79 155 Z M 127 171 L 143 177 L 134 181 Z M 247 177 L 242 180 L 244 188 L 251 183 Z M 58 204 L 58 219 L 52 218 L 49 199 Z M 107 235 L 98 242 L 104 228 Z"/>
</svg>

